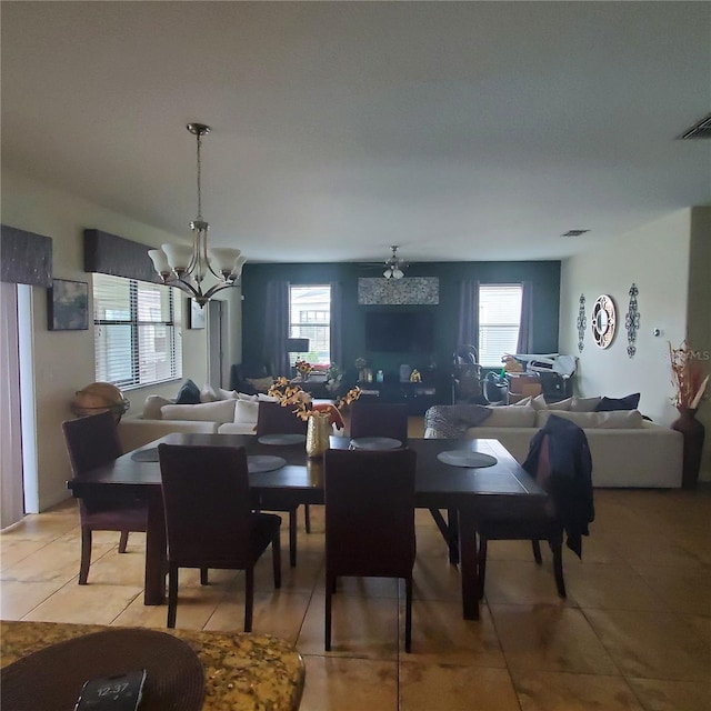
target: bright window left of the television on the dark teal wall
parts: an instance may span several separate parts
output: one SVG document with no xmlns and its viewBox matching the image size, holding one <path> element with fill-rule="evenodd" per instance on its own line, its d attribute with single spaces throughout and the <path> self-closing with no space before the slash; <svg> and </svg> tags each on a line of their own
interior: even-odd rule
<svg viewBox="0 0 711 711">
<path fill-rule="evenodd" d="M 308 338 L 308 353 L 291 353 L 312 364 L 331 362 L 331 287 L 312 284 L 289 287 L 289 338 Z"/>
</svg>

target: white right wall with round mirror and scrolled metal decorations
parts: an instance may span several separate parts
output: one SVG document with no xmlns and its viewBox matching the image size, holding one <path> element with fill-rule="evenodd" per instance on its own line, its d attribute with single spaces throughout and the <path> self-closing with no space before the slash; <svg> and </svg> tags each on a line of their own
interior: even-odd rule
<svg viewBox="0 0 711 711">
<path fill-rule="evenodd" d="M 575 378 L 577 392 L 581 395 L 604 394 L 622 397 L 641 392 L 639 409 L 643 414 L 662 424 L 670 424 L 678 412 L 671 404 L 673 388 L 669 367 L 669 342 L 679 346 L 687 337 L 689 316 L 709 318 L 709 266 L 704 270 L 705 287 L 697 286 L 695 306 L 690 310 L 690 259 L 692 244 L 692 216 L 698 223 L 694 242 L 701 240 L 708 227 L 710 208 L 680 210 L 653 223 L 600 243 L 590 238 L 590 249 L 563 262 L 561 269 L 560 350 L 579 358 Z M 705 257 L 709 249 L 705 242 Z M 698 254 L 703 256 L 701 248 Z M 694 267 L 698 272 L 698 266 Z M 629 306 L 629 289 L 639 289 L 638 309 L 640 330 L 637 337 L 637 354 L 627 353 L 624 317 Z M 578 317 L 580 294 L 585 296 L 588 328 L 582 352 L 578 350 Z M 591 313 L 594 300 L 609 294 L 618 310 L 617 336 L 608 349 L 595 346 L 591 333 Z M 701 301 L 705 299 L 705 303 Z M 654 337 L 652 331 L 662 331 Z M 709 336 L 707 327 L 705 338 Z M 694 348 L 708 346 L 694 344 Z M 711 403 L 704 403 L 711 409 Z M 704 413 L 705 417 L 705 413 Z M 708 425 L 707 425 L 708 429 Z M 711 433 L 707 437 L 704 464 L 701 478 L 711 479 L 709 449 Z"/>
</svg>

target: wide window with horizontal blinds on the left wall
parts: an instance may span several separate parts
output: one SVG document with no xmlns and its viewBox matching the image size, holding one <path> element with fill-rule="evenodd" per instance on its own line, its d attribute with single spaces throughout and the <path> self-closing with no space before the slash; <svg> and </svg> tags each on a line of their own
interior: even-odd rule
<svg viewBox="0 0 711 711">
<path fill-rule="evenodd" d="M 93 276 L 97 380 L 138 388 L 182 377 L 173 289 L 136 279 Z"/>
</svg>

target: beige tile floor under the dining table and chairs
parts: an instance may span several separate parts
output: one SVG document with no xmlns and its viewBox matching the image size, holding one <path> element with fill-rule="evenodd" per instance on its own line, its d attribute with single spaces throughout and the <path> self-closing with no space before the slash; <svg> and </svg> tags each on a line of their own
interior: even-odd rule
<svg viewBox="0 0 711 711">
<path fill-rule="evenodd" d="M 304 658 L 303 711 L 703 711 L 711 709 L 711 488 L 595 491 L 597 519 L 579 561 L 565 551 L 560 600 L 545 555 L 491 543 L 481 620 L 464 621 L 459 577 L 429 515 L 418 511 L 412 653 L 402 649 L 403 590 L 344 580 L 334 598 L 333 651 L 323 651 L 323 517 L 299 532 L 299 564 L 274 591 L 259 565 L 254 631 Z M 142 603 L 143 543 L 94 537 L 77 584 L 73 502 L 0 535 L 3 619 L 163 627 Z M 287 542 L 284 540 L 284 550 Z M 544 553 L 548 551 L 544 551 Z M 568 554 L 570 553 L 570 554 Z M 241 573 L 182 573 L 178 627 L 240 630 Z"/>
</svg>

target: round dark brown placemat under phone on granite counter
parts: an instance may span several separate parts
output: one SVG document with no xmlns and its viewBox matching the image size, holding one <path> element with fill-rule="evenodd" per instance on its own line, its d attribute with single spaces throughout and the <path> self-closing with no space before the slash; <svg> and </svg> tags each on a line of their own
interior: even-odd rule
<svg viewBox="0 0 711 711">
<path fill-rule="evenodd" d="M 117 629 L 58 642 L 2 669 L 2 709 L 70 711 L 86 681 L 146 669 L 141 711 L 199 711 L 204 672 L 187 642 L 156 630 Z"/>
</svg>

